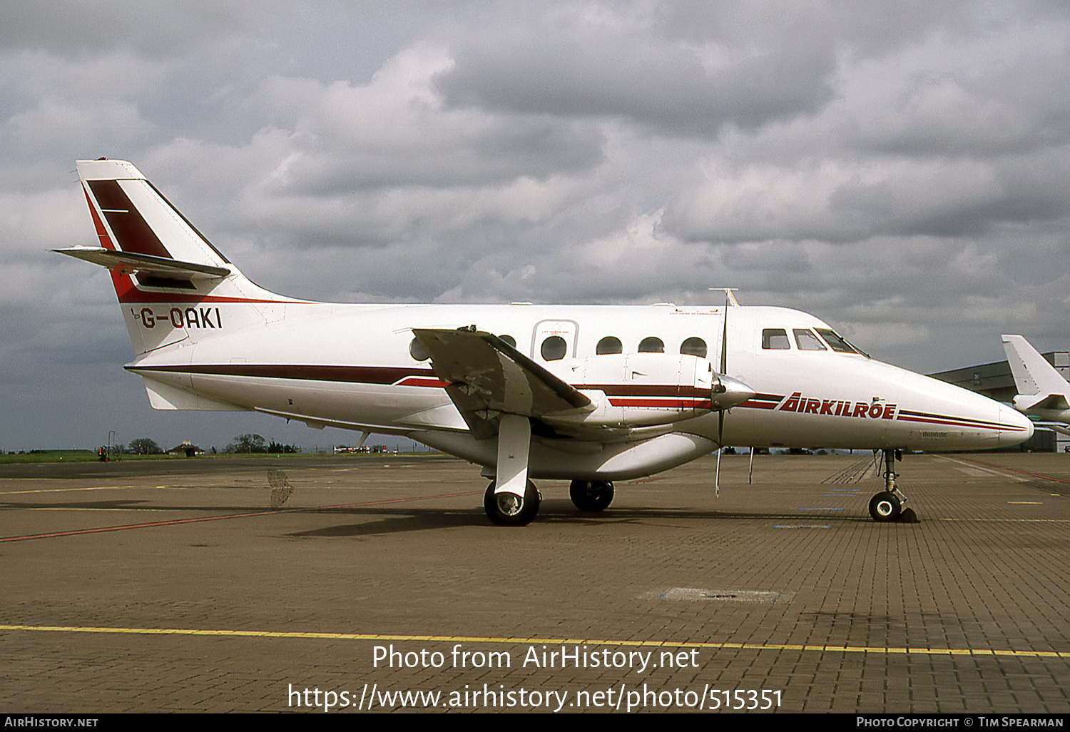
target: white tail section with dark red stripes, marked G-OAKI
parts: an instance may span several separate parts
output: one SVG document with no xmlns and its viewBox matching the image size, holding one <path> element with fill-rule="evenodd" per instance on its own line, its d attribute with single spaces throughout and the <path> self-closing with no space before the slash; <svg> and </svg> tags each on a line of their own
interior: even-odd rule
<svg viewBox="0 0 1070 732">
<path fill-rule="evenodd" d="M 249 281 L 129 163 L 79 161 L 78 174 L 98 245 L 57 251 L 110 271 L 138 356 L 301 302 Z"/>
</svg>

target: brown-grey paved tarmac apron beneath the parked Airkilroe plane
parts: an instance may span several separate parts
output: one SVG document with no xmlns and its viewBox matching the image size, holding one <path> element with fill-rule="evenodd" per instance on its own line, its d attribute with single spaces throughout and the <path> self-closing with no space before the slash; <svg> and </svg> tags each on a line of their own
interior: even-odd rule
<svg viewBox="0 0 1070 732">
<path fill-rule="evenodd" d="M 1070 455 L 908 455 L 915 524 L 715 460 L 519 529 L 441 457 L 0 466 L 0 713 L 1070 712 Z"/>
</svg>

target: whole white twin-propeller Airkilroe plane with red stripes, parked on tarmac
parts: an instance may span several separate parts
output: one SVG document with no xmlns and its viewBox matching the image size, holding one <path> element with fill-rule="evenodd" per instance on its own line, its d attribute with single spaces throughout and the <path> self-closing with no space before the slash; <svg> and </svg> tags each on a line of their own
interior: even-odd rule
<svg viewBox="0 0 1070 732">
<path fill-rule="evenodd" d="M 138 170 L 78 163 L 156 409 L 249 410 L 310 427 L 402 434 L 484 466 L 496 523 L 538 512 L 530 478 L 571 481 L 601 510 L 613 481 L 722 445 L 902 449 L 1015 445 L 1033 425 L 978 394 L 870 359 L 781 307 L 389 305 L 293 300 L 249 281 Z M 365 436 L 365 437 L 366 437 Z"/>
</svg>

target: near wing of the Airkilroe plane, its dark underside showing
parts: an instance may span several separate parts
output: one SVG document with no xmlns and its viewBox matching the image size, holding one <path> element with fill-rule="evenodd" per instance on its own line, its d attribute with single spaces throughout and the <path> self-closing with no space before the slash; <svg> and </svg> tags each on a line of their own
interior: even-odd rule
<svg viewBox="0 0 1070 732">
<path fill-rule="evenodd" d="M 478 438 L 498 431 L 501 414 L 541 420 L 595 409 L 579 390 L 493 334 L 471 329 L 414 329 L 413 334 Z"/>
</svg>

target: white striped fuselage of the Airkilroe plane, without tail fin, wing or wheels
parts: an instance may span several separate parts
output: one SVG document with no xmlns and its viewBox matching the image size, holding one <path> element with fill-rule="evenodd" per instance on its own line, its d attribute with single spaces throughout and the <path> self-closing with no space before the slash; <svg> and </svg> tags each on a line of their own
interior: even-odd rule
<svg viewBox="0 0 1070 732">
<path fill-rule="evenodd" d="M 430 363 L 413 354 L 412 330 L 474 324 L 509 336 L 538 365 L 627 412 L 597 441 L 536 433 L 533 477 L 622 479 L 716 449 L 716 411 L 688 417 L 677 410 L 681 418 L 661 424 L 643 424 L 642 415 L 667 405 L 672 411 L 682 399 L 679 380 L 673 379 L 681 362 L 706 360 L 719 369 L 725 312 L 725 371 L 755 395 L 725 415 L 724 444 L 972 449 L 1017 444 L 1028 429 L 1013 410 L 972 392 L 820 341 L 821 350 L 800 350 L 796 331 L 829 326 L 788 308 L 275 302 L 256 305 L 255 316 L 248 303 L 199 304 L 192 312 L 146 308 L 153 306 L 127 304 L 124 310 L 132 336 L 164 344 L 127 366 L 146 378 L 150 393 L 163 385 L 219 402 L 215 408 L 403 433 L 482 464 L 493 464 L 495 441 L 469 433 Z M 781 348 L 763 348 L 769 330 L 788 336 L 777 344 Z M 563 341 L 563 352 L 542 352 L 551 338 L 560 339 L 559 348 Z M 607 338 L 620 341 L 620 354 L 598 353 Z M 643 344 L 652 338 L 662 352 L 640 353 L 641 347 L 659 348 Z M 682 356 L 682 346 L 692 354 Z M 705 355 L 698 355 L 703 349 Z M 628 368 L 629 357 L 637 368 Z M 588 378 L 593 366 L 614 359 L 622 366 L 614 388 L 606 379 Z M 659 369 L 663 373 L 652 373 Z M 196 408 L 192 402 L 174 407 Z M 657 442 L 646 445 L 652 440 Z M 655 453 L 663 457 L 653 459 Z"/>
</svg>

